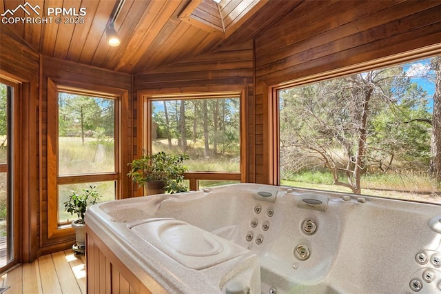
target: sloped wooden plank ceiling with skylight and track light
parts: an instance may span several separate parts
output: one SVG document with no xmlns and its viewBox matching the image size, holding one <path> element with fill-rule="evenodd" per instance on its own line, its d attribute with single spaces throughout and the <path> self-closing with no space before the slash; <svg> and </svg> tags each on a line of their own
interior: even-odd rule
<svg viewBox="0 0 441 294">
<path fill-rule="evenodd" d="M 303 0 L 220 0 L 218 4 L 213 0 L 125 0 L 114 21 L 121 45 L 111 47 L 105 29 L 119 1 L 0 0 L 0 13 L 13 12 L 3 17 L 37 17 L 34 12 L 16 10 L 25 3 L 36 8 L 39 17 L 53 17 L 52 23 L 1 23 L 0 29 L 14 32 L 48 57 L 140 73 L 253 39 Z M 71 15 L 85 15 L 80 19 L 61 15 L 58 24 L 53 14 L 47 15 L 50 8 L 72 8 Z M 222 30 L 207 29 L 213 27 L 210 19 L 218 19 L 216 26 Z"/>
</svg>

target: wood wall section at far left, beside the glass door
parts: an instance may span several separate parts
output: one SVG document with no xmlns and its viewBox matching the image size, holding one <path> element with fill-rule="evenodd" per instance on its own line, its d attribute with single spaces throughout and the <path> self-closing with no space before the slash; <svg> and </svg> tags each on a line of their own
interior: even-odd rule
<svg viewBox="0 0 441 294">
<path fill-rule="evenodd" d="M 19 239 L 21 260 L 37 258 L 39 246 L 39 63 L 40 56 L 6 26 L 0 30 L 0 76 L 19 83 L 21 100 L 18 101 L 19 153 L 14 166 L 17 175 L 15 193 L 19 194 Z"/>
</svg>

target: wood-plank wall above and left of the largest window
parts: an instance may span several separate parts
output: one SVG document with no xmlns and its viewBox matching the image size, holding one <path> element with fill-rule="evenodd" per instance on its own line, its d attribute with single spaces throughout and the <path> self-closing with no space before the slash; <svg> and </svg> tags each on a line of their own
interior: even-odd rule
<svg viewBox="0 0 441 294">
<path fill-rule="evenodd" d="M 256 182 L 277 184 L 268 168 L 271 86 L 440 45 L 440 15 L 441 1 L 304 1 L 258 37 Z"/>
</svg>

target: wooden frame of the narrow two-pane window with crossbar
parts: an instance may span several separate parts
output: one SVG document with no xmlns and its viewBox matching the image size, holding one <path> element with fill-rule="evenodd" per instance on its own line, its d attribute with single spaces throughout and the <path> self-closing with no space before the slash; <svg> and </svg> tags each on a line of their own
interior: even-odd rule
<svg viewBox="0 0 441 294">
<path fill-rule="evenodd" d="M 111 173 L 94 173 L 90 175 L 63 175 L 58 173 L 58 95 L 59 92 L 70 92 L 92 97 L 103 97 L 115 101 L 115 171 Z M 128 99 L 127 90 L 101 87 L 90 84 L 70 84 L 69 81 L 48 79 L 48 238 L 72 235 L 73 228 L 59 225 L 59 184 L 79 184 L 88 182 L 115 181 L 115 198 L 120 199 L 123 190 L 121 173 L 123 155 L 121 151 L 121 113 L 123 101 Z"/>
</svg>

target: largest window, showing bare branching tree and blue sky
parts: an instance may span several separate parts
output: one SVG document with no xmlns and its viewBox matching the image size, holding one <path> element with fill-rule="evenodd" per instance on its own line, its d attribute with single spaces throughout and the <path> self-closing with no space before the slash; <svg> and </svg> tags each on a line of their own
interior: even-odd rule
<svg viewBox="0 0 441 294">
<path fill-rule="evenodd" d="M 278 90 L 280 184 L 441 203 L 440 65 Z"/>
</svg>

